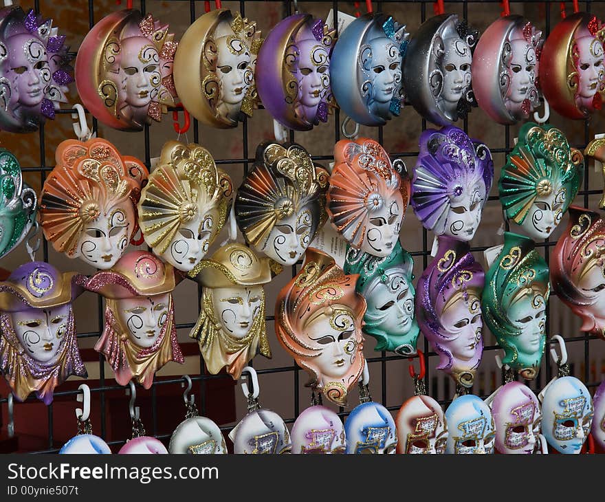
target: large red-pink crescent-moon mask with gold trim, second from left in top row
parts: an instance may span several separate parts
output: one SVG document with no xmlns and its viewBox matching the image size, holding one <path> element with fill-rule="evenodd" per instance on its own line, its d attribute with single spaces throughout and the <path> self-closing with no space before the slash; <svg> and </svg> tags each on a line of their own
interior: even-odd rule
<svg viewBox="0 0 605 502">
<path fill-rule="evenodd" d="M 122 131 L 142 131 L 162 120 L 174 106 L 170 65 L 177 43 L 168 25 L 120 10 L 88 32 L 76 58 L 76 85 L 82 102 L 103 124 Z M 166 87 L 167 84 L 168 87 Z"/>
</svg>

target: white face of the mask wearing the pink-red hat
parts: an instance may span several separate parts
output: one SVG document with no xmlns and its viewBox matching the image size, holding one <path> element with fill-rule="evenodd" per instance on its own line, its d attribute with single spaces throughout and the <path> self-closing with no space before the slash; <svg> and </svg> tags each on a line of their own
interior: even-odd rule
<svg viewBox="0 0 605 502">
<path fill-rule="evenodd" d="M 168 320 L 169 301 L 170 294 L 118 300 L 118 316 L 128 330 L 131 342 L 143 349 L 155 343 Z"/>
</svg>

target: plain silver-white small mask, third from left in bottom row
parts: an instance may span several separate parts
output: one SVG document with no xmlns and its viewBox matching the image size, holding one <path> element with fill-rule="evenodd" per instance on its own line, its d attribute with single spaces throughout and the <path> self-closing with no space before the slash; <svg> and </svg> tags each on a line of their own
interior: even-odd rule
<svg viewBox="0 0 605 502">
<path fill-rule="evenodd" d="M 212 420 L 190 417 L 175 428 L 168 451 L 191 455 L 227 453 L 227 446 L 221 429 Z"/>
</svg>

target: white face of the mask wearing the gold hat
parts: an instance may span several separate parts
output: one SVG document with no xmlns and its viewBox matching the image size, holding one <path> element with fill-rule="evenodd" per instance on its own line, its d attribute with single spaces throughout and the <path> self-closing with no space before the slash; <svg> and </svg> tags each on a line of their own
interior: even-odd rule
<svg viewBox="0 0 605 502">
<path fill-rule="evenodd" d="M 212 289 L 214 317 L 225 333 L 234 338 L 244 338 L 250 332 L 254 320 L 261 312 L 263 287 L 233 286 Z"/>
</svg>

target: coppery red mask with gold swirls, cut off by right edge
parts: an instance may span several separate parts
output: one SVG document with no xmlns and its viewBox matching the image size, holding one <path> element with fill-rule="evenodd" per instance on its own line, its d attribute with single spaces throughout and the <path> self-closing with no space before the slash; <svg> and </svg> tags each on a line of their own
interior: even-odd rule
<svg viewBox="0 0 605 502">
<path fill-rule="evenodd" d="M 605 338 L 605 220 L 569 207 L 569 224 L 551 254 L 553 291 L 582 319 L 582 331 Z"/>
</svg>

